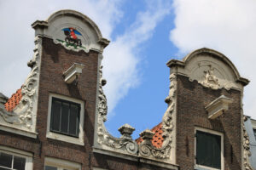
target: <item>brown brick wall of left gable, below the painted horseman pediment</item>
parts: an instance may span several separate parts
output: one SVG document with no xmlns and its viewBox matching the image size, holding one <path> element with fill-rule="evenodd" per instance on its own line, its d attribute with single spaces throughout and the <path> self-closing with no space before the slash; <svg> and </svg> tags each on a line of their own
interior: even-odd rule
<svg viewBox="0 0 256 170">
<path fill-rule="evenodd" d="M 44 169 L 45 156 L 77 162 L 82 165 L 82 170 L 90 170 L 93 167 L 109 170 L 166 170 L 140 161 L 93 153 L 98 53 L 73 52 L 46 37 L 43 38 L 42 50 L 36 126 L 38 139 L 0 131 L 0 145 L 31 152 L 34 170 Z M 85 67 L 79 76 L 79 83 L 67 85 L 62 74 L 73 63 L 81 63 Z M 46 138 L 50 93 L 84 101 L 84 146 Z"/>
</svg>

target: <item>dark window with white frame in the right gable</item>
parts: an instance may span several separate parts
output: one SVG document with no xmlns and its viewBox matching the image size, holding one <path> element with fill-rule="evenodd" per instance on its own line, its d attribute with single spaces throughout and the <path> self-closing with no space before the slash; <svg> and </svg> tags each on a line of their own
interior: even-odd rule
<svg viewBox="0 0 256 170">
<path fill-rule="evenodd" d="M 195 131 L 195 167 L 223 169 L 223 135 L 207 129 Z"/>
</svg>

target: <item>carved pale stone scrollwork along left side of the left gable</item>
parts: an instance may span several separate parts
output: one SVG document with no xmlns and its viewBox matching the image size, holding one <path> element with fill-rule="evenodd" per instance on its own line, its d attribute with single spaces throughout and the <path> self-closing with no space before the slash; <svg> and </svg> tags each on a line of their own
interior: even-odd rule
<svg viewBox="0 0 256 170">
<path fill-rule="evenodd" d="M 26 82 L 21 87 L 22 98 L 14 110 L 9 112 L 4 108 L 3 103 L 0 103 L 0 123 L 11 127 L 17 127 L 21 130 L 35 133 L 37 100 L 38 100 L 38 78 L 39 78 L 39 63 L 41 53 L 41 39 L 35 38 L 35 49 L 33 58 L 28 62 L 32 68 L 26 78 Z"/>
</svg>

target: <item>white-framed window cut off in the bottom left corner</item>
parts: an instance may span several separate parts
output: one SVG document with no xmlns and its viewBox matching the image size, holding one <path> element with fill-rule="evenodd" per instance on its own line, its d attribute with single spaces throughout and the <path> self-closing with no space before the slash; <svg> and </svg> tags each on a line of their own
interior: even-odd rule
<svg viewBox="0 0 256 170">
<path fill-rule="evenodd" d="M 0 146 L 0 170 L 32 170 L 32 157 L 22 153 L 20 150 Z"/>
</svg>

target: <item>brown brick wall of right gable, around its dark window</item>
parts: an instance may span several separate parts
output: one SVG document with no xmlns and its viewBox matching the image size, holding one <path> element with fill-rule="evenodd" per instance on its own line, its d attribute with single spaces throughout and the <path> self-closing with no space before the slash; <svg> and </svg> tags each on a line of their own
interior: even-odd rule
<svg viewBox="0 0 256 170">
<path fill-rule="evenodd" d="M 224 112 L 223 116 L 209 120 L 205 106 L 222 94 L 234 99 L 233 103 L 230 104 L 230 109 Z M 224 133 L 224 169 L 241 169 L 240 125 L 240 91 L 224 88 L 212 90 L 204 88 L 196 81 L 189 82 L 188 77 L 177 76 L 177 164 L 181 170 L 194 169 L 195 127 Z"/>
</svg>

